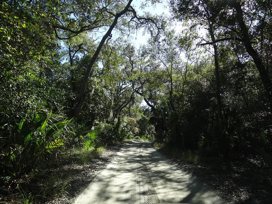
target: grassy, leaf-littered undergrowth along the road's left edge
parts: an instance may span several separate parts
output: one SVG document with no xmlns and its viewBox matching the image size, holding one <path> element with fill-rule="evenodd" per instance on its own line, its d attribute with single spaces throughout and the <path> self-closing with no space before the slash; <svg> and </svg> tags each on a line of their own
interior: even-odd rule
<svg viewBox="0 0 272 204">
<path fill-rule="evenodd" d="M 69 191 L 73 185 L 71 179 L 73 180 L 75 172 L 66 169 L 67 166 L 76 165 L 76 169 L 80 171 L 83 167 L 92 164 L 92 160 L 100 157 L 104 151 L 105 148 L 102 146 L 97 148 L 90 146 L 87 150 L 82 147 L 73 148 L 63 156 L 62 162 L 55 163 L 53 168 L 36 168 L 20 179 L 2 177 L 0 194 L 6 197 L 18 195 L 15 203 L 23 204 L 44 203 L 56 196 L 70 196 Z"/>
</svg>

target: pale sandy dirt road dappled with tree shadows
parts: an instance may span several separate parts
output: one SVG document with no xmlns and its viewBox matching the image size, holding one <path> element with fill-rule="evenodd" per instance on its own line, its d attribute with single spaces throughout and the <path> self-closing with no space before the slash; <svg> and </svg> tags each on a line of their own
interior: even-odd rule
<svg viewBox="0 0 272 204">
<path fill-rule="evenodd" d="M 151 142 L 125 144 L 76 204 L 226 203 L 152 148 Z"/>
</svg>

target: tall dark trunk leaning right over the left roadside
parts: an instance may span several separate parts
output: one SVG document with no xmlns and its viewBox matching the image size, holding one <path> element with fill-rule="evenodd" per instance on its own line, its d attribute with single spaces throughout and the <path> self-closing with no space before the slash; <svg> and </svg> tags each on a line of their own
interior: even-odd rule
<svg viewBox="0 0 272 204">
<path fill-rule="evenodd" d="M 106 41 L 106 39 L 111 35 L 113 28 L 117 24 L 118 18 L 121 17 L 121 15 L 125 14 L 129 10 L 129 7 L 130 7 L 132 1 L 133 0 L 129 0 L 129 2 L 126 5 L 126 7 L 124 8 L 124 10 L 120 11 L 119 13 L 117 13 L 115 15 L 115 18 L 114 18 L 111 26 L 109 27 L 107 33 L 102 37 L 102 40 L 100 41 L 98 47 L 96 48 L 95 53 L 92 56 L 92 59 L 90 60 L 88 66 L 87 66 L 86 72 L 82 78 L 82 81 L 81 81 L 81 84 L 79 87 L 78 97 L 76 99 L 75 105 L 68 112 L 68 115 L 67 115 L 68 118 L 76 117 L 79 114 L 79 112 L 82 108 L 85 96 L 86 96 L 86 93 L 85 93 L 86 87 L 87 87 L 87 84 L 89 81 L 90 73 L 92 72 L 92 67 L 93 67 L 94 63 L 96 62 L 96 59 L 100 53 L 100 50 L 102 49 L 102 46 L 104 45 L 104 43 Z"/>
</svg>

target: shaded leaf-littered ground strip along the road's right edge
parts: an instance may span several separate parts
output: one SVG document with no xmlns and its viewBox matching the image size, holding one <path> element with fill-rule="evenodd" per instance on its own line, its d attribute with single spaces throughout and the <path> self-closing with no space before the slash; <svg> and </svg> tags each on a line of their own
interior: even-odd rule
<svg viewBox="0 0 272 204">
<path fill-rule="evenodd" d="M 228 202 L 269 203 L 272 199 L 271 166 L 254 151 L 246 155 L 241 151 L 243 155 L 226 160 L 222 155 L 173 148 L 169 143 L 154 142 L 153 147 Z"/>
</svg>

